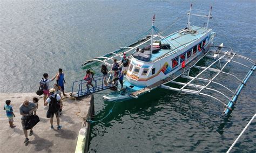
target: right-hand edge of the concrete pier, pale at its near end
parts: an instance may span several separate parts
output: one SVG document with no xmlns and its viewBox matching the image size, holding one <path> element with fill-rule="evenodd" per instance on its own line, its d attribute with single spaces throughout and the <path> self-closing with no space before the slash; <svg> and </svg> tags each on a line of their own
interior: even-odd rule
<svg viewBox="0 0 256 153">
<path fill-rule="evenodd" d="M 92 116 L 95 113 L 94 109 L 94 96 L 93 94 L 91 95 L 91 100 L 90 100 L 90 107 L 87 113 L 86 117 Z M 89 137 L 90 137 L 90 122 L 86 122 L 84 120 L 84 124 L 82 125 L 82 128 L 79 130 L 78 138 L 77 138 L 77 145 L 76 145 L 76 153 L 82 153 L 82 152 L 87 152 L 89 148 Z"/>
</svg>

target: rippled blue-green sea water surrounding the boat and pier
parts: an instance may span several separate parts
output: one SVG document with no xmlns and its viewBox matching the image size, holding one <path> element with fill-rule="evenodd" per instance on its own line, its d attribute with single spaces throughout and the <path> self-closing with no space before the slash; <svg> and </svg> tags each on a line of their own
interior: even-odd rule
<svg viewBox="0 0 256 153">
<path fill-rule="evenodd" d="M 35 92 L 43 73 L 52 77 L 63 68 L 66 91 L 83 77 L 85 60 L 133 43 L 151 26 L 166 33 L 186 26 L 189 1 L 0 1 L 0 93 Z M 239 54 L 256 60 L 255 1 L 194 1 L 208 12 L 217 44 L 224 42 Z M 196 10 L 194 10 L 196 11 Z M 197 10 L 201 12 L 201 10 Z M 203 25 L 193 18 L 192 25 Z M 240 77 L 245 74 L 237 66 Z M 217 81 L 230 82 L 222 76 Z M 223 107 L 210 98 L 157 89 L 137 100 L 119 102 L 103 122 L 92 125 L 90 152 L 224 152 L 255 111 L 255 73 L 242 90 L 235 110 L 221 116 Z M 114 103 L 96 94 L 96 119 Z M 256 121 L 232 151 L 256 151 Z"/>
</svg>

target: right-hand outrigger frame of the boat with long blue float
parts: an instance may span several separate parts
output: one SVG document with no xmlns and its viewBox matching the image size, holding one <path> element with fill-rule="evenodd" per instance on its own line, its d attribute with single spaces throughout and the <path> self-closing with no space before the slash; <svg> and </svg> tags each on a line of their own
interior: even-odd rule
<svg viewBox="0 0 256 153">
<path fill-rule="evenodd" d="M 218 48 L 217 48 L 218 47 Z M 204 58 L 213 58 L 211 64 L 209 66 L 203 67 L 199 66 L 199 62 L 201 60 L 204 60 Z M 240 62 L 238 59 L 246 62 Z M 228 64 L 234 63 L 236 64 L 237 68 L 241 69 L 242 67 L 247 68 L 249 71 L 244 77 L 244 79 L 239 79 L 235 74 L 231 74 L 229 72 L 225 72 L 224 69 Z M 252 64 L 253 66 L 247 66 L 248 64 Z M 193 74 L 192 69 L 197 69 L 199 71 L 198 74 Z M 183 69 L 183 73 L 178 75 L 178 77 L 165 82 L 164 84 L 160 85 L 161 88 L 169 89 L 171 91 L 177 91 L 177 92 L 184 92 L 189 94 L 196 94 L 196 95 L 204 95 L 211 97 L 218 102 L 220 102 L 224 107 L 224 115 L 227 115 L 231 112 L 233 109 L 234 103 L 237 101 L 238 95 L 241 92 L 241 89 L 246 85 L 246 82 L 252 75 L 252 73 L 255 71 L 256 65 L 255 61 L 244 57 L 242 55 L 239 55 L 231 48 L 220 46 L 215 46 L 215 48 L 211 49 L 203 57 L 201 57 L 196 64 L 192 65 L 191 67 L 185 67 Z M 205 78 L 204 74 L 214 73 L 212 76 L 208 76 L 208 78 Z M 237 89 L 232 91 L 232 89 L 226 87 L 226 85 L 223 85 L 216 80 L 216 78 L 220 75 L 224 74 L 226 76 L 234 78 L 233 80 L 239 83 L 239 86 Z M 194 76 L 193 76 L 194 75 Z M 193 76 L 193 77 L 192 77 Z M 181 81 L 175 81 L 178 78 L 183 78 L 187 80 L 187 82 L 181 82 Z M 222 78 L 220 78 L 222 79 Z M 223 80 L 225 82 L 225 80 Z M 170 84 L 174 84 L 174 86 L 171 86 Z M 220 91 L 220 88 L 212 88 L 209 87 L 210 85 L 214 84 L 215 86 L 219 86 L 220 88 L 225 89 L 227 92 L 232 93 L 231 95 L 226 95 L 226 93 L 223 93 Z M 179 86 L 180 88 L 177 88 L 175 86 Z M 210 92 L 210 93 L 209 93 Z M 218 96 L 215 96 L 218 95 Z M 226 104 L 225 101 L 228 103 Z"/>
</svg>

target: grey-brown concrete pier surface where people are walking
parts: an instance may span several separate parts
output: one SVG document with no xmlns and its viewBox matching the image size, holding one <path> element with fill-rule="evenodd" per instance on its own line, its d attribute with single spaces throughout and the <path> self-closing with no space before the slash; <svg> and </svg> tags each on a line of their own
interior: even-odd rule
<svg viewBox="0 0 256 153">
<path fill-rule="evenodd" d="M 41 121 L 33 128 L 34 134 L 28 136 L 29 143 L 23 143 L 25 136 L 21 125 L 22 116 L 19 114 L 19 106 L 25 100 L 32 101 L 34 96 L 39 98 L 37 115 Z M 3 110 L 5 100 L 8 99 L 11 100 L 11 106 L 16 115 L 14 117 L 16 127 L 13 129 L 9 127 L 8 118 L 5 110 Z M 60 130 L 57 130 L 56 117 L 53 118 L 55 129 L 50 129 L 50 119 L 46 118 L 48 106 L 44 106 L 43 96 L 34 93 L 0 94 L 0 100 L 1 152 L 75 152 L 77 144 L 80 143 L 77 142 L 77 139 L 81 128 L 86 130 L 85 138 L 89 137 L 90 125 L 86 124 L 84 119 L 88 113 L 93 113 L 93 96 L 80 100 L 69 96 L 64 97 L 62 116 L 60 117 L 62 129 Z M 87 149 L 86 143 L 85 141 L 85 144 L 82 144 L 84 146 L 78 146 L 78 148 Z"/>
</svg>

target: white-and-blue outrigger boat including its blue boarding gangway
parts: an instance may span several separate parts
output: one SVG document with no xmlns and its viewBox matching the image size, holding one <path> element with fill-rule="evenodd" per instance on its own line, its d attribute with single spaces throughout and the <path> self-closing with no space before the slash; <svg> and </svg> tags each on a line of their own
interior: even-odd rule
<svg viewBox="0 0 256 153">
<path fill-rule="evenodd" d="M 231 48 L 224 47 L 223 44 L 214 46 L 213 39 L 215 32 L 208 28 L 209 20 L 212 18 L 212 8 L 208 15 L 192 14 L 191 8 L 192 5 L 188 12 L 188 22 L 185 29 L 164 37 L 162 35 L 164 31 L 160 31 L 154 26 L 155 16 L 153 16 L 152 27 L 150 29 L 151 35 L 127 47 L 120 48 L 102 57 L 87 60 L 82 64 L 83 66 L 88 66 L 99 62 L 111 66 L 114 58 L 120 62 L 124 52 L 127 58 L 130 59 L 124 81 L 125 90 L 114 91 L 104 95 L 103 99 L 105 101 L 124 101 L 139 98 L 140 95 L 149 93 L 153 89 L 160 87 L 176 92 L 208 96 L 220 102 L 225 107 L 225 115 L 231 112 L 241 89 L 246 85 L 253 71 L 255 71 L 255 61 L 235 53 Z M 206 27 L 191 26 L 190 17 L 192 15 L 207 17 Z M 138 50 L 137 48 L 140 49 Z M 211 62 L 209 59 L 212 59 Z M 202 62 L 205 62 L 208 66 L 200 66 Z M 225 72 L 225 68 L 231 62 L 249 69 L 244 79 L 239 79 L 236 75 Z M 247 64 L 244 62 L 247 62 Z M 252 64 L 252 66 L 247 66 L 248 64 Z M 208 75 L 210 74 L 213 74 L 213 76 L 209 77 Z M 238 88 L 232 91 L 232 89 L 215 81 L 220 74 L 228 75 L 240 82 Z M 205 75 L 207 75 L 207 78 L 204 77 Z M 177 81 L 180 78 L 186 81 Z M 96 77 L 96 88 L 95 90 L 90 89 L 89 91 L 83 88 L 86 81 L 75 81 L 72 86 L 72 95 L 76 97 L 86 96 L 116 87 L 117 84 L 111 83 L 112 79 L 113 75 L 110 72 L 108 75 L 109 84 L 104 86 L 103 76 Z M 211 88 L 211 85 L 217 85 L 230 92 L 231 95 L 220 92 L 219 88 Z M 177 88 L 177 86 L 180 88 Z M 212 93 L 207 94 L 207 91 L 218 95 Z M 228 102 L 227 105 L 225 101 Z"/>
</svg>

